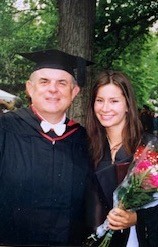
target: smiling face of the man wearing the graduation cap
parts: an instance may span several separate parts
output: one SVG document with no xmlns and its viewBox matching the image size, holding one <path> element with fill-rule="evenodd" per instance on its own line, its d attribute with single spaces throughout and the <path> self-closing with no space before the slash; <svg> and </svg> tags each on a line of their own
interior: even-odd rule
<svg viewBox="0 0 158 247">
<path fill-rule="evenodd" d="M 33 72 L 26 89 L 32 104 L 44 118 L 54 114 L 62 117 L 80 90 L 68 72 L 47 68 Z"/>
</svg>

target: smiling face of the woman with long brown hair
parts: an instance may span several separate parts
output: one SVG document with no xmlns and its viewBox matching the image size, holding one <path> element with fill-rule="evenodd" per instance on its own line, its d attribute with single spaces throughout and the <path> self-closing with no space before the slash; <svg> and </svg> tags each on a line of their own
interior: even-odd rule
<svg viewBox="0 0 158 247">
<path fill-rule="evenodd" d="M 122 130 L 126 123 L 126 113 L 128 112 L 122 90 L 114 84 L 101 86 L 95 98 L 94 112 L 101 125 L 105 128 L 116 127 Z"/>
</svg>

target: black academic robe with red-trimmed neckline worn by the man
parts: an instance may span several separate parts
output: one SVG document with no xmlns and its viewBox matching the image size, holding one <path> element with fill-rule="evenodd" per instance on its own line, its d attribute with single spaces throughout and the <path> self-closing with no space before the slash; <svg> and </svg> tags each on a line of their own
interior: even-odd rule
<svg viewBox="0 0 158 247">
<path fill-rule="evenodd" d="M 39 123 L 31 109 L 0 117 L 0 245 L 80 245 L 90 173 L 85 130 L 73 124 L 51 141 L 57 136 L 42 136 Z"/>
</svg>

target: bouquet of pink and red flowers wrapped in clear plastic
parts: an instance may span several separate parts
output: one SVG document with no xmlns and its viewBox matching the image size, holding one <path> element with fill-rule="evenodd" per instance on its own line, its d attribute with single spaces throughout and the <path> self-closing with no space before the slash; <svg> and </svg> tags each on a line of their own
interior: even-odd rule
<svg viewBox="0 0 158 247">
<path fill-rule="evenodd" d="M 140 146 L 123 182 L 113 193 L 113 206 L 125 210 L 151 207 L 158 202 L 158 140 L 154 138 L 146 147 Z M 83 246 L 108 247 L 114 231 L 108 220 L 97 227 Z M 100 238 L 103 237 L 100 243 Z"/>
</svg>

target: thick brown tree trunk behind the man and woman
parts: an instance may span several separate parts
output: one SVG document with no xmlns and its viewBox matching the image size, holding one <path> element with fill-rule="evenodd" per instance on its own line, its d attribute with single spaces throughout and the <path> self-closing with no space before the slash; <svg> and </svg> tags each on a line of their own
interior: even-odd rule
<svg viewBox="0 0 158 247">
<path fill-rule="evenodd" d="M 91 60 L 96 0 L 57 0 L 59 10 L 59 49 Z M 87 69 L 87 83 L 73 102 L 68 115 L 84 125 L 91 89 L 92 70 Z"/>
</svg>

